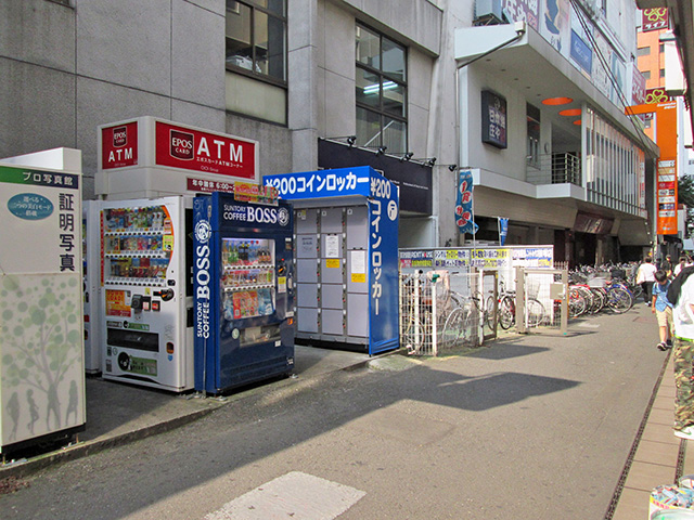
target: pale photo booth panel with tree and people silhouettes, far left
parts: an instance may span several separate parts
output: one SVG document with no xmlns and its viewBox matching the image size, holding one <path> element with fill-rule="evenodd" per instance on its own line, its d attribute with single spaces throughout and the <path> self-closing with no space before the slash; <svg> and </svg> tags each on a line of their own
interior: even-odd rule
<svg viewBox="0 0 694 520">
<path fill-rule="evenodd" d="M 0 451 L 83 429 L 80 177 L 0 166 Z"/>
</svg>

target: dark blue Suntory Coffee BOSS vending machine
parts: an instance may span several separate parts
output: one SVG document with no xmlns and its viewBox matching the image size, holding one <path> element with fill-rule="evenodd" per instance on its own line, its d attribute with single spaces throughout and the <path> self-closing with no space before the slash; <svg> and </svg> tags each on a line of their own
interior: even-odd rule
<svg viewBox="0 0 694 520">
<path fill-rule="evenodd" d="M 195 389 L 213 394 L 294 367 L 292 206 L 239 198 L 193 202 Z"/>
</svg>

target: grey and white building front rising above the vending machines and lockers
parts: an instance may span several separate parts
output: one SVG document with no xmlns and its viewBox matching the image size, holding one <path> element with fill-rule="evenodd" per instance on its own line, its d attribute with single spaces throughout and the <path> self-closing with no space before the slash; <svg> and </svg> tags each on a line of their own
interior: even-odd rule
<svg viewBox="0 0 694 520">
<path fill-rule="evenodd" d="M 505 217 L 509 244 L 577 263 L 650 245 L 657 148 L 624 103 L 633 1 L 0 0 L 0 156 L 79 148 L 86 198 L 97 127 L 155 116 L 257 141 L 262 176 L 383 171 L 402 247 L 472 239 L 461 169 L 475 240 L 498 240 Z M 490 102 L 503 143 L 483 130 Z"/>
</svg>

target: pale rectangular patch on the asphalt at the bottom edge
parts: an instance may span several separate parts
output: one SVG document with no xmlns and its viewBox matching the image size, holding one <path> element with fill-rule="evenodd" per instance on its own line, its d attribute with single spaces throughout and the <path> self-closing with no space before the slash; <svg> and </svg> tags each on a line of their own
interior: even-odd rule
<svg viewBox="0 0 694 520">
<path fill-rule="evenodd" d="M 333 520 L 365 494 L 348 485 L 292 471 L 224 504 L 205 520 Z"/>
</svg>

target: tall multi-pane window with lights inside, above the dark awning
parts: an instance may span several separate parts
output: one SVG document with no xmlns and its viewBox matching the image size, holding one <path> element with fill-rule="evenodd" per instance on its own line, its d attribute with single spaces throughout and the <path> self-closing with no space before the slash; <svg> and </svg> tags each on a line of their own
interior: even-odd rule
<svg viewBox="0 0 694 520">
<path fill-rule="evenodd" d="M 407 52 L 380 32 L 357 25 L 357 144 L 408 152 Z"/>
</svg>

